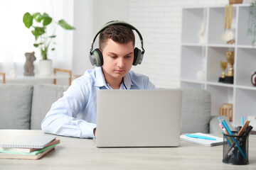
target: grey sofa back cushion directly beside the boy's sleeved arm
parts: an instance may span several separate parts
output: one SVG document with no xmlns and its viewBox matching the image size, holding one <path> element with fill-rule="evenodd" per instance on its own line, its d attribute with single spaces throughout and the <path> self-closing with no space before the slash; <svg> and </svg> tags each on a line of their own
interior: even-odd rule
<svg viewBox="0 0 256 170">
<path fill-rule="evenodd" d="M 37 84 L 33 90 L 31 129 L 41 130 L 41 122 L 52 104 L 63 96 L 68 86 Z"/>
</svg>

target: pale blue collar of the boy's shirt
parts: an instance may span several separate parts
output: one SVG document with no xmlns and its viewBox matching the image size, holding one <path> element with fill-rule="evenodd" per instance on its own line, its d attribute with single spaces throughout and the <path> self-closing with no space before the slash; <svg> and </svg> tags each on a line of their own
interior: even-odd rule
<svg viewBox="0 0 256 170">
<path fill-rule="evenodd" d="M 95 75 L 96 75 L 95 86 L 98 86 L 98 87 L 107 86 L 104 74 L 102 72 L 102 67 L 95 67 Z M 131 86 L 133 85 L 133 83 L 132 83 L 131 75 L 129 72 L 124 76 L 123 83 L 127 89 L 131 89 Z"/>
</svg>

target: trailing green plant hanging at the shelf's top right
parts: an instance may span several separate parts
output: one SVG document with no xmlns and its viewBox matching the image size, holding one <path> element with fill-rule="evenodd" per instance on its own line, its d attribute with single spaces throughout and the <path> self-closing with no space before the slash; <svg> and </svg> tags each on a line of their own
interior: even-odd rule
<svg viewBox="0 0 256 170">
<path fill-rule="evenodd" d="M 247 35 L 252 35 L 252 46 L 256 45 L 256 0 L 250 3 Z"/>
</svg>

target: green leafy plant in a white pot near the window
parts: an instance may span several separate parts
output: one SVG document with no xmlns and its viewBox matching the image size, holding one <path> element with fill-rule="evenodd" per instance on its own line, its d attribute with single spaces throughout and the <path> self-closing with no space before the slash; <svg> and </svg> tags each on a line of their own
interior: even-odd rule
<svg viewBox="0 0 256 170">
<path fill-rule="evenodd" d="M 55 22 L 55 28 L 53 28 L 53 33 L 48 34 L 48 26 L 53 23 L 53 18 L 51 18 L 48 13 L 25 13 L 23 15 L 23 23 L 26 28 L 32 28 L 31 33 L 35 36 L 34 47 L 38 47 L 41 50 L 42 60 L 38 62 L 39 73 L 41 75 L 50 75 L 52 72 L 52 60 L 48 60 L 48 50 L 55 50 L 54 47 L 50 47 L 51 42 L 56 38 L 55 30 L 58 26 L 61 26 L 65 30 L 74 30 L 73 26 L 70 26 L 63 19 Z"/>
</svg>

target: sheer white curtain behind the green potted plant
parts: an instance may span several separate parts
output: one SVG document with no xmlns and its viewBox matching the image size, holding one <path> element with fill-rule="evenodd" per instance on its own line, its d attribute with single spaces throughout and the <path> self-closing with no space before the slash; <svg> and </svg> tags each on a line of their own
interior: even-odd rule
<svg viewBox="0 0 256 170">
<path fill-rule="evenodd" d="M 73 0 L 1 0 L 0 72 L 6 72 L 7 75 L 11 70 L 23 74 L 26 61 L 24 53 L 33 51 L 36 52 L 34 65 L 38 72 L 37 63 L 41 60 L 41 54 L 38 48 L 33 47 L 34 36 L 31 30 L 23 24 L 23 14 L 26 12 L 46 12 L 53 18 L 53 22 L 64 19 L 73 26 Z M 50 33 L 53 33 L 53 28 L 50 28 Z M 73 31 L 58 27 L 55 35 L 55 51 L 49 51 L 48 58 L 53 60 L 53 67 L 72 69 Z"/>
</svg>

